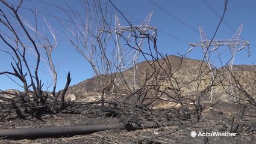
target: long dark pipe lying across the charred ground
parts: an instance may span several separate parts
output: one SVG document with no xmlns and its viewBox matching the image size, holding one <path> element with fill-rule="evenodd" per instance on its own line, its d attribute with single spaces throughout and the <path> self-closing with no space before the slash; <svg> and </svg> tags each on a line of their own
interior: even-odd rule
<svg viewBox="0 0 256 144">
<path fill-rule="evenodd" d="M 120 129 L 120 130 L 138 130 L 143 128 L 157 128 L 170 125 L 190 125 L 192 121 L 169 121 L 136 124 L 115 124 L 115 125 L 74 125 L 69 127 L 45 127 L 45 128 L 13 128 L 0 130 L 0 138 L 18 138 L 25 139 L 31 137 L 52 137 L 67 134 L 90 134 L 102 130 Z"/>
</svg>

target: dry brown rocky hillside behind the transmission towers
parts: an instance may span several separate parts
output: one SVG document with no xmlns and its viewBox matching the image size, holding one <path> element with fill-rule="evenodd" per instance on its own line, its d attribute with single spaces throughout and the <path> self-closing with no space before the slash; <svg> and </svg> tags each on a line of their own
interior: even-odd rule
<svg viewBox="0 0 256 144">
<path fill-rule="evenodd" d="M 152 68 L 152 65 L 154 65 L 154 68 Z M 157 73 L 155 70 L 158 70 Z M 179 89 L 180 95 L 190 97 L 195 97 L 198 92 L 203 91 L 203 99 L 208 100 L 210 91 L 204 90 L 208 89 L 210 86 L 211 75 L 209 71 L 210 70 L 205 62 L 170 55 L 165 59 L 159 59 L 157 62 L 143 61 L 137 64 L 137 85 L 139 88 L 143 86 L 145 82 L 148 85 L 149 83 L 157 83 L 160 86 L 161 91 L 166 91 L 168 94 L 175 94 L 173 93 L 173 89 Z M 150 79 L 147 79 L 152 73 L 157 74 L 157 76 L 152 76 Z M 214 74 L 216 75 L 213 86 L 214 100 L 228 99 L 225 92 L 225 89 L 228 88 L 227 73 L 228 71 L 225 67 L 214 70 Z M 234 65 L 233 75 L 249 94 L 255 95 L 256 68 L 254 65 Z M 129 83 L 133 83 L 134 76 L 129 71 L 124 71 L 123 76 L 126 77 L 126 80 Z M 105 80 L 106 79 L 104 78 L 103 81 Z M 99 80 L 98 77 L 92 77 L 91 79 L 87 79 L 76 85 L 70 86 L 68 94 L 75 94 L 75 97 L 78 99 L 85 98 L 90 95 L 99 95 L 99 93 L 102 93 L 102 83 L 104 82 Z M 240 94 L 240 91 L 236 88 L 236 82 L 234 79 L 233 83 L 233 89 L 236 92 L 236 95 Z M 119 86 L 120 88 L 126 88 L 127 83 L 120 82 Z M 113 87 L 110 86 L 108 91 L 110 91 L 111 88 Z"/>
</svg>

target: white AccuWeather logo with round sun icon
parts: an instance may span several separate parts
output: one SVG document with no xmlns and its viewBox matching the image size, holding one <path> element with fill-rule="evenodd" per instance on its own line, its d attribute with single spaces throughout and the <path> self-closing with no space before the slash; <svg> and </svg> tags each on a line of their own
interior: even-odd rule
<svg viewBox="0 0 256 144">
<path fill-rule="evenodd" d="M 219 133 L 218 131 L 212 131 L 211 133 L 196 133 L 196 131 L 191 131 L 190 136 L 196 137 L 196 136 L 207 136 L 207 137 L 234 137 L 236 136 L 237 133 L 229 133 L 229 132 L 224 132 L 224 133 Z"/>
</svg>

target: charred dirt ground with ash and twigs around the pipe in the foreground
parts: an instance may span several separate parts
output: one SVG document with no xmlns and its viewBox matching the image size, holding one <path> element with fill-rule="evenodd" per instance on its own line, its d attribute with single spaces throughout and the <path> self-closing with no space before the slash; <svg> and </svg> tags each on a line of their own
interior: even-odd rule
<svg viewBox="0 0 256 144">
<path fill-rule="evenodd" d="M 256 110 L 246 107 L 243 122 L 235 137 L 192 137 L 191 131 L 197 133 L 207 131 L 220 133 L 230 130 L 233 116 L 237 118 L 239 106 L 233 103 L 219 102 L 203 103 L 205 109 L 201 119 L 193 125 L 173 125 L 161 128 L 143 130 L 105 130 L 92 134 L 58 137 L 36 137 L 33 139 L 6 139 L 0 137 L 0 143 L 256 143 Z M 16 118 L 11 113 L 5 113 L 0 118 L 0 129 L 27 127 L 63 127 L 68 125 L 96 125 L 96 124 L 125 124 L 140 121 L 167 121 L 166 109 L 150 110 L 132 108 L 130 106 L 106 106 L 102 108 L 96 104 L 74 104 L 63 113 L 43 115 L 42 119 Z M 191 118 L 191 120 L 196 120 Z"/>
</svg>

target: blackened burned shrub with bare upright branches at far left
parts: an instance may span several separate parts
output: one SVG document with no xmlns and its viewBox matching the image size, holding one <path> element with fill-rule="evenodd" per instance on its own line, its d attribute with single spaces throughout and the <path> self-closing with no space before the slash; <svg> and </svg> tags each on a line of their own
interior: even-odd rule
<svg viewBox="0 0 256 144">
<path fill-rule="evenodd" d="M 24 19 L 19 13 L 22 1 L 17 6 L 9 4 L 7 1 L 1 1 L 3 6 L 0 10 L 1 24 L 1 52 L 10 56 L 12 71 L 1 71 L 1 76 L 16 77 L 23 92 L 14 95 L 13 98 L 1 98 L 3 101 L 10 102 L 10 110 L 15 110 L 20 118 L 25 117 L 25 113 L 32 116 L 40 116 L 45 112 L 52 112 L 52 107 L 60 105 L 57 109 L 63 109 L 64 95 L 67 91 L 58 92 L 55 89 L 57 85 L 57 70 L 52 61 L 52 51 L 57 45 L 57 38 L 51 25 L 43 17 L 49 34 L 43 34 L 39 28 L 39 14 L 36 10 L 31 10 L 30 14 L 34 16 L 34 24 Z M 46 59 L 45 59 L 46 58 Z M 44 83 L 39 77 L 40 65 L 42 61 L 48 65 L 49 73 L 52 74 L 54 86 L 52 95 L 43 91 Z M 70 74 L 67 74 L 66 87 L 70 83 Z M 1 94 L 6 92 L 2 91 Z M 8 93 L 8 92 L 7 92 Z M 57 97 L 61 94 L 61 104 L 57 103 Z M 13 95 L 13 94 L 9 94 Z M 51 104 L 50 104 L 51 103 Z M 24 112 L 22 112 L 23 110 Z"/>
</svg>

